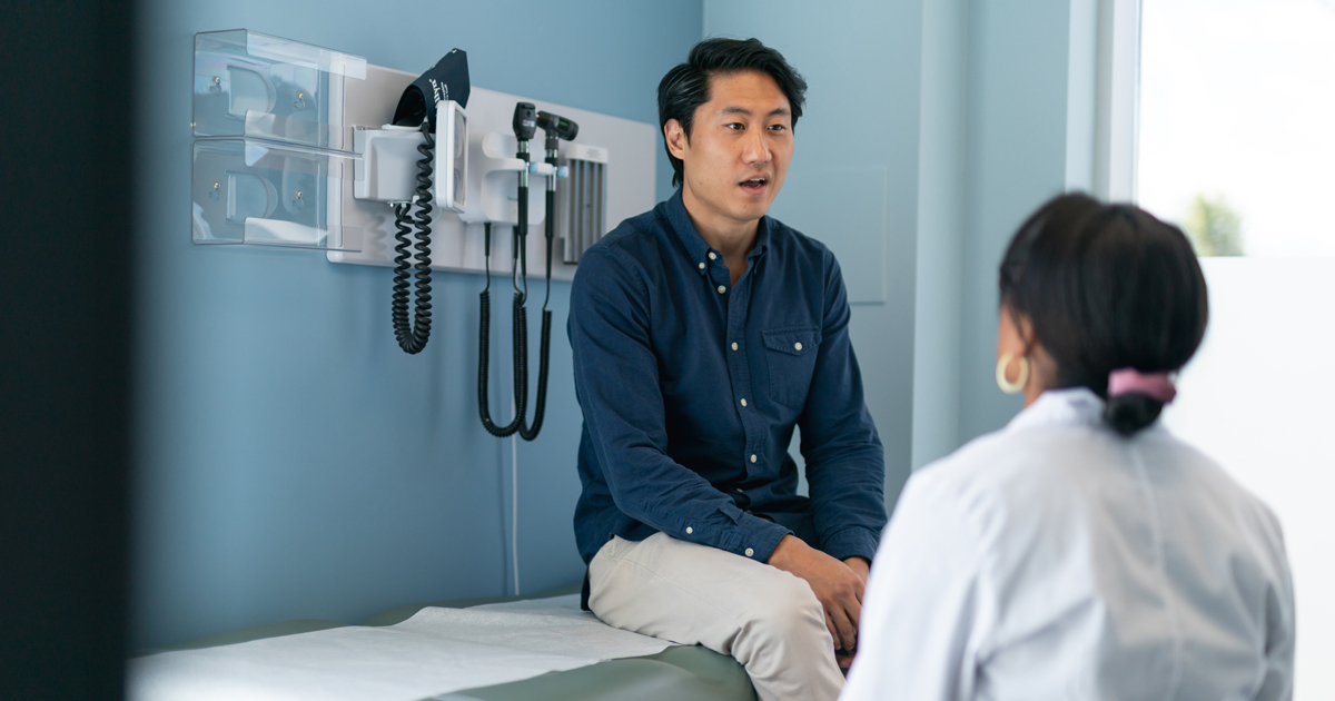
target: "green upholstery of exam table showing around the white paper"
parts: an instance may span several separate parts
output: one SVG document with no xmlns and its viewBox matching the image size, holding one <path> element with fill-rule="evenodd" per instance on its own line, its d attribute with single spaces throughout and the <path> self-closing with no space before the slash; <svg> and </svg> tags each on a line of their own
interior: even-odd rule
<svg viewBox="0 0 1335 701">
<path fill-rule="evenodd" d="M 426 608 L 466 609 L 503 602 L 534 601 L 577 594 L 578 585 L 523 597 L 450 600 L 398 606 L 362 621 L 362 626 L 394 626 Z M 298 620 L 247 628 L 171 648 L 198 650 L 346 628 L 335 621 Z M 154 650 L 168 652 L 168 650 Z M 753 701 L 756 692 L 737 661 L 701 646 L 672 646 L 661 653 L 606 660 L 565 672 L 549 672 L 521 681 L 457 690 L 427 698 L 477 701 Z"/>
</svg>

